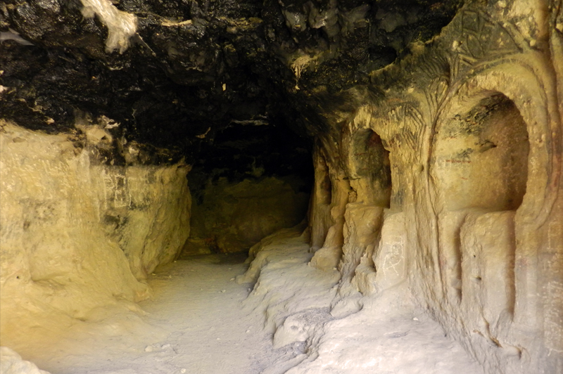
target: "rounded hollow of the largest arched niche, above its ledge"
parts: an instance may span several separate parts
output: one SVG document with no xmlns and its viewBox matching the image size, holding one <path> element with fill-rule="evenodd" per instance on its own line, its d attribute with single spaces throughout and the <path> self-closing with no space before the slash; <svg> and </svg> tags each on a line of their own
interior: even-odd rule
<svg viewBox="0 0 563 374">
<path fill-rule="evenodd" d="M 510 98 L 488 91 L 463 103 L 435 138 L 432 174 L 443 209 L 516 210 L 529 151 L 526 122 Z"/>
</svg>

